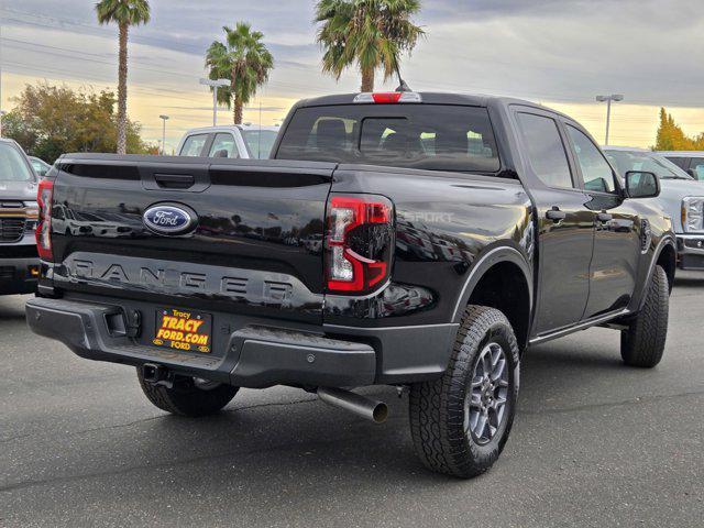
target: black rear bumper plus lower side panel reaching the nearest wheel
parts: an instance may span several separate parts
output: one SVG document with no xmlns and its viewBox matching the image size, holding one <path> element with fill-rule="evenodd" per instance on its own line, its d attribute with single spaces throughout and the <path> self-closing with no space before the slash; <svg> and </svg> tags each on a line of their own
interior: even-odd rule
<svg viewBox="0 0 704 528">
<path fill-rule="evenodd" d="M 433 380 L 446 371 L 458 326 L 356 328 L 336 324 L 282 329 L 280 321 L 216 314 L 211 353 L 157 348 L 125 334 L 125 310 L 140 311 L 148 333 L 148 302 L 110 298 L 36 297 L 26 304 L 35 333 L 81 358 L 163 365 L 177 374 L 239 387 L 273 385 L 352 387 Z M 275 328 L 274 324 L 277 324 Z M 116 331 L 117 330 L 117 331 Z"/>
</svg>

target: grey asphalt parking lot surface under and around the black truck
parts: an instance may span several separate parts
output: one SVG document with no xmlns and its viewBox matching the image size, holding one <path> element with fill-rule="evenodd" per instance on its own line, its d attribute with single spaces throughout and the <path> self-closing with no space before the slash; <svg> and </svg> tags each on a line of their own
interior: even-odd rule
<svg viewBox="0 0 704 528">
<path fill-rule="evenodd" d="M 219 416 L 152 407 L 129 367 L 80 360 L 0 298 L 0 526 L 704 525 L 704 274 L 680 273 L 663 362 L 617 332 L 529 352 L 503 457 L 458 481 L 416 460 L 407 400 L 374 426 L 301 391 Z"/>
</svg>

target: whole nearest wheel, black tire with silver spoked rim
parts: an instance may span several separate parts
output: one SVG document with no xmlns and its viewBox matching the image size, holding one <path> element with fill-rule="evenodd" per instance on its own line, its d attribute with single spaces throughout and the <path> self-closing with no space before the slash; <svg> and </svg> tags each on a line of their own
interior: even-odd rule
<svg viewBox="0 0 704 528">
<path fill-rule="evenodd" d="M 416 453 L 432 471 L 463 479 L 498 459 L 514 421 L 519 351 L 506 317 L 469 306 L 448 370 L 410 391 Z"/>
</svg>

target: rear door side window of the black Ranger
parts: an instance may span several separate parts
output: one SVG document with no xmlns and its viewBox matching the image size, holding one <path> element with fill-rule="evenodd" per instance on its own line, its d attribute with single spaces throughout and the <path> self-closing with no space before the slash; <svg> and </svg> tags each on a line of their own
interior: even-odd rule
<svg viewBox="0 0 704 528">
<path fill-rule="evenodd" d="M 574 187 L 558 123 L 534 113 L 518 113 L 518 123 L 536 176 L 549 187 Z"/>
</svg>

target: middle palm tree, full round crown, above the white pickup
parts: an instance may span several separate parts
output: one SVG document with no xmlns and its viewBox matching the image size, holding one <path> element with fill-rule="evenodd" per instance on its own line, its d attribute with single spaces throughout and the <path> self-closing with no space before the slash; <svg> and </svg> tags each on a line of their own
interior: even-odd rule
<svg viewBox="0 0 704 528">
<path fill-rule="evenodd" d="M 211 79 L 230 79 L 230 87 L 218 90 L 219 102 L 234 107 L 234 124 L 242 123 L 242 108 L 250 102 L 256 89 L 268 80 L 274 57 L 258 31 L 246 22 L 238 22 L 234 30 L 222 28 L 224 44 L 215 41 L 206 53 L 206 67 Z"/>
</svg>

